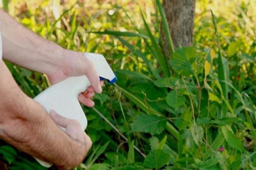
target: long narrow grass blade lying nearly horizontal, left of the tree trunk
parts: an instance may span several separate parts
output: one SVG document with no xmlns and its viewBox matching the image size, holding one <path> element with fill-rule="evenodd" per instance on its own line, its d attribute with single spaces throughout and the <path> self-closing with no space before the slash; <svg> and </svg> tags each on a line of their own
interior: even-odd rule
<svg viewBox="0 0 256 170">
<path fill-rule="evenodd" d="M 123 36 L 123 37 L 141 37 L 148 39 L 148 36 L 144 34 L 139 34 L 135 32 L 128 32 L 128 31 L 91 31 L 90 33 L 94 34 L 106 34 L 106 35 L 113 35 L 113 36 Z"/>
</svg>

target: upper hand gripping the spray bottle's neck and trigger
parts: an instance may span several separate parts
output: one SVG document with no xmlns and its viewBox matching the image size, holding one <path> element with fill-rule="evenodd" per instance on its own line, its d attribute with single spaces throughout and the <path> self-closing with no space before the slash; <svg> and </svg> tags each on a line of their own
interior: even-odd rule
<svg viewBox="0 0 256 170">
<path fill-rule="evenodd" d="M 91 99 L 96 93 L 102 92 L 103 81 L 99 81 L 99 75 L 93 65 L 93 62 L 84 57 L 81 52 L 63 49 L 63 59 L 56 64 L 56 69 L 52 74 L 48 74 L 49 81 L 52 84 L 61 82 L 71 76 L 86 75 L 91 83 L 91 87 L 79 94 L 79 102 L 88 107 L 93 107 L 94 102 Z"/>
</svg>

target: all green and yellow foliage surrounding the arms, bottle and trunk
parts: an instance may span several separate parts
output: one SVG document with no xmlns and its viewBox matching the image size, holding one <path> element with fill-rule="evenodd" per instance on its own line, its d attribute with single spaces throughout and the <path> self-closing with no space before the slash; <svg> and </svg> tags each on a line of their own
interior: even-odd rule
<svg viewBox="0 0 256 170">
<path fill-rule="evenodd" d="M 84 107 L 93 147 L 77 169 L 256 168 L 255 1 L 198 0 L 194 45 L 177 49 L 159 0 L 81 2 L 6 8 L 64 48 L 102 53 L 116 72 Z M 48 87 L 43 74 L 6 64 L 27 95 Z M 2 143 L 10 169 L 44 169 Z"/>
</svg>

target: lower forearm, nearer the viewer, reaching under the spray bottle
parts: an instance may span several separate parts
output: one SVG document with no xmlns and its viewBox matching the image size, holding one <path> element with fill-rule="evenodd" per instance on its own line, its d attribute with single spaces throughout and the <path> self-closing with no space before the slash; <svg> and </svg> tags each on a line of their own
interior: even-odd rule
<svg viewBox="0 0 256 170">
<path fill-rule="evenodd" d="M 58 166 L 78 164 L 85 146 L 71 139 L 44 108 L 24 95 L 0 61 L 0 137 L 18 149 Z M 84 152 L 84 153 L 82 153 Z"/>
</svg>

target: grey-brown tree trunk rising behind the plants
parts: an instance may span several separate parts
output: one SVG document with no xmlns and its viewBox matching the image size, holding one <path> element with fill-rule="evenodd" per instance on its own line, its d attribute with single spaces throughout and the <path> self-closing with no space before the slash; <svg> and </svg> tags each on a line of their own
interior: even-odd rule
<svg viewBox="0 0 256 170">
<path fill-rule="evenodd" d="M 163 8 L 169 24 L 174 48 L 191 46 L 194 29 L 195 0 L 163 0 Z M 163 34 L 162 34 L 163 35 Z M 163 37 L 169 54 L 168 43 Z"/>
</svg>

